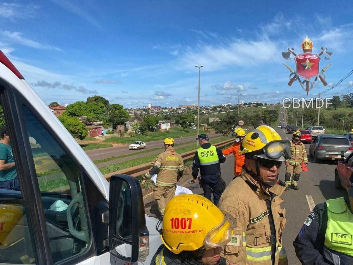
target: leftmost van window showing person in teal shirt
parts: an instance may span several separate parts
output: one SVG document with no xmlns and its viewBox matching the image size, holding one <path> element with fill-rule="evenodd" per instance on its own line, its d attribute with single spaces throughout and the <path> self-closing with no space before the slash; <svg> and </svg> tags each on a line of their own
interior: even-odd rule
<svg viewBox="0 0 353 265">
<path fill-rule="evenodd" d="M 0 105 L 0 263 L 35 264 L 9 133 Z"/>
</svg>

